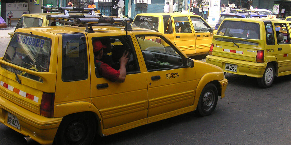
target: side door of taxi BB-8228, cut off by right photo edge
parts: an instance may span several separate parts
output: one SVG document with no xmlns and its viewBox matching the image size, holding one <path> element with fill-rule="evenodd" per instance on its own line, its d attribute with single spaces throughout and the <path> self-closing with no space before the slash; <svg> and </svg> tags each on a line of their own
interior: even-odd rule
<svg viewBox="0 0 291 145">
<path fill-rule="evenodd" d="M 275 23 L 275 30 L 276 30 L 276 36 L 281 33 L 283 34 L 283 40 L 278 41 L 278 38 L 276 40 L 276 57 L 279 62 L 279 73 L 286 72 L 291 70 L 291 41 L 290 41 L 290 28 L 287 25 L 286 22 L 284 23 Z M 268 50 L 266 49 L 266 52 L 268 53 L 269 51 L 273 50 Z"/>
</svg>

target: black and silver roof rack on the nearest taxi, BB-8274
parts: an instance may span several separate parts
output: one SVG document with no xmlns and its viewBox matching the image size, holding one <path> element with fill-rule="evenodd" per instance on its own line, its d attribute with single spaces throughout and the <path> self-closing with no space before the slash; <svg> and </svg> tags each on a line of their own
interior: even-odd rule
<svg viewBox="0 0 291 145">
<path fill-rule="evenodd" d="M 124 30 L 132 31 L 130 23 L 133 21 L 132 18 L 110 18 L 103 17 L 102 15 L 47 15 L 47 20 L 53 22 L 78 25 L 79 27 L 86 27 L 85 32 L 94 33 L 92 26 L 125 26 Z M 67 19 L 67 20 L 64 20 Z"/>
</svg>

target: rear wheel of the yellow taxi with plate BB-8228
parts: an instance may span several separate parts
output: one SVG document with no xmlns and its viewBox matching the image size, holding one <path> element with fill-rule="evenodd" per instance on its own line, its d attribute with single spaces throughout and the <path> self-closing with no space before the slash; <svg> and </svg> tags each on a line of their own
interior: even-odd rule
<svg viewBox="0 0 291 145">
<path fill-rule="evenodd" d="M 262 78 L 258 78 L 258 84 L 262 88 L 269 88 L 275 78 L 275 68 L 272 64 L 268 64 Z"/>
</svg>

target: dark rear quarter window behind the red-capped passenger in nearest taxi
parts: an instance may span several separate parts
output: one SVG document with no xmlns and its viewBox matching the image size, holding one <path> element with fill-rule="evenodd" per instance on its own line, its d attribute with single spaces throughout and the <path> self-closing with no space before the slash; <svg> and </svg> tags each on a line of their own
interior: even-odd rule
<svg viewBox="0 0 291 145">
<path fill-rule="evenodd" d="M 84 34 L 64 34 L 62 80 L 77 81 L 88 78 L 87 45 Z"/>
</svg>

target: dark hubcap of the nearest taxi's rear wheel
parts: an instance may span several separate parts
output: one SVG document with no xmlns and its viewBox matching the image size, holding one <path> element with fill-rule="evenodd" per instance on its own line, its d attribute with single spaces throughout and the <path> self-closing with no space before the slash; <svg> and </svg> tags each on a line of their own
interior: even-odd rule
<svg viewBox="0 0 291 145">
<path fill-rule="evenodd" d="M 71 122 L 65 130 L 65 141 L 69 144 L 82 142 L 85 138 L 86 127 L 80 121 Z"/>
</svg>

